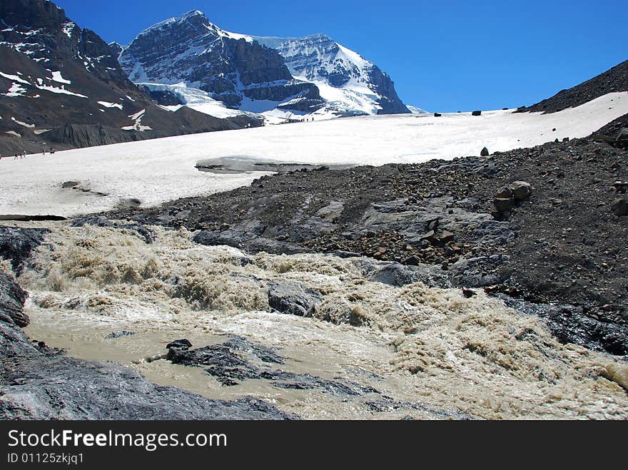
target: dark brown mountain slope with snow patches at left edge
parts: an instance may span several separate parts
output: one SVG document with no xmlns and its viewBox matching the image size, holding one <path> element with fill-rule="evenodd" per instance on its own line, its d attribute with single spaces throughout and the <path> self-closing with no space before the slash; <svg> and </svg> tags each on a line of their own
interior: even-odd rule
<svg viewBox="0 0 628 470">
<path fill-rule="evenodd" d="M 51 1 L 0 2 L 0 153 L 259 125 L 166 111 L 128 80 L 115 49 Z"/>
</svg>

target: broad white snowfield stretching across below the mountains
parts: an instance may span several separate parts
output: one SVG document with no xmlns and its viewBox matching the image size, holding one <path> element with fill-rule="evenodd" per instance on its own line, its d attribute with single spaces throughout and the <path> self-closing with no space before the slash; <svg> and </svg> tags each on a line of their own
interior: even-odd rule
<svg viewBox="0 0 628 470">
<path fill-rule="evenodd" d="M 628 113 L 628 92 L 609 93 L 560 113 L 488 111 L 364 116 L 224 131 L 0 160 L 0 214 L 71 216 L 143 205 L 249 184 L 265 173 L 213 174 L 200 160 L 238 157 L 293 163 L 383 165 L 452 159 L 588 136 Z M 139 123 L 139 116 L 133 116 Z M 552 131 L 556 128 L 556 131 Z M 83 191 L 64 189 L 66 181 Z M 91 192 L 86 192 L 89 190 Z M 104 193 L 106 195 L 97 195 Z"/>
</svg>

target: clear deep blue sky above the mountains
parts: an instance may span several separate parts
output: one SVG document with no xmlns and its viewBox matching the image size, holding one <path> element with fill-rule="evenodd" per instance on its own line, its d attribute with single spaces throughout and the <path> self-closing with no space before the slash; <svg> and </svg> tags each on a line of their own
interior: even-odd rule
<svg viewBox="0 0 628 470">
<path fill-rule="evenodd" d="M 430 111 L 517 107 L 628 59 L 627 0 L 57 0 L 106 41 L 201 10 L 259 36 L 325 33 L 376 63 Z"/>
</svg>

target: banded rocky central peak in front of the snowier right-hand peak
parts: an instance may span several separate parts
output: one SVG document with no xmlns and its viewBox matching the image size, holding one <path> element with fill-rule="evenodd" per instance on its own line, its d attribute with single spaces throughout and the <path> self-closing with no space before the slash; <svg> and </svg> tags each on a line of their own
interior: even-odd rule
<svg viewBox="0 0 628 470">
<path fill-rule="evenodd" d="M 323 104 L 316 86 L 295 80 L 279 53 L 222 31 L 201 11 L 142 31 L 119 61 L 134 83 L 183 82 L 243 111 L 307 112 Z"/>
</svg>

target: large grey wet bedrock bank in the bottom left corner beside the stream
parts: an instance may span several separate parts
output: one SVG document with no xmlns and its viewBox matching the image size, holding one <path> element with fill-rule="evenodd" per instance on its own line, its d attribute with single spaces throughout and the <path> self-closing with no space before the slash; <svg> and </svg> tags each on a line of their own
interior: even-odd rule
<svg viewBox="0 0 628 470">
<path fill-rule="evenodd" d="M 0 419 L 294 419 L 259 399 L 211 400 L 111 362 L 64 357 L 16 325 L 25 292 L 0 273 Z"/>
</svg>

